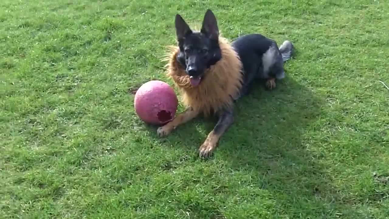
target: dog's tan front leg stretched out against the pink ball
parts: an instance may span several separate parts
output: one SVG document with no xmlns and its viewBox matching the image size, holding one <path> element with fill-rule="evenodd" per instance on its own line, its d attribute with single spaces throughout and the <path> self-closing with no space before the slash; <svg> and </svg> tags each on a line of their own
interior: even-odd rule
<svg viewBox="0 0 389 219">
<path fill-rule="evenodd" d="M 196 111 L 195 109 L 188 108 L 186 111 L 174 117 L 172 121 L 168 122 L 162 127 L 159 127 L 157 129 L 158 136 L 159 137 L 167 136 L 168 134 L 170 134 L 170 132 L 173 131 L 173 129 L 177 128 L 181 124 L 188 122 L 189 120 L 192 120 L 193 118 L 197 117 L 198 114 L 199 112 Z"/>
</svg>

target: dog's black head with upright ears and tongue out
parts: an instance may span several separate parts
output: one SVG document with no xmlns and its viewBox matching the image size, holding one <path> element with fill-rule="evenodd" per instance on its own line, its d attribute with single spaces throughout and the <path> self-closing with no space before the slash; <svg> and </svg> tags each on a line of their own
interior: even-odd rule
<svg viewBox="0 0 389 219">
<path fill-rule="evenodd" d="M 177 60 L 185 67 L 191 85 L 196 87 L 206 77 L 206 70 L 221 59 L 216 17 L 211 10 L 207 10 L 200 32 L 193 32 L 177 14 L 175 29 L 180 48 Z"/>
</svg>

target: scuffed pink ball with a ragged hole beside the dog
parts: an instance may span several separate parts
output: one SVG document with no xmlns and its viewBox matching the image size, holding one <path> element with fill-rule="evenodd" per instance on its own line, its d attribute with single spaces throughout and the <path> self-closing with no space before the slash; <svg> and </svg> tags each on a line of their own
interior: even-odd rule
<svg viewBox="0 0 389 219">
<path fill-rule="evenodd" d="M 135 112 L 146 123 L 161 125 L 175 117 L 178 99 L 170 85 L 163 81 L 148 81 L 137 90 Z"/>
</svg>

